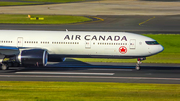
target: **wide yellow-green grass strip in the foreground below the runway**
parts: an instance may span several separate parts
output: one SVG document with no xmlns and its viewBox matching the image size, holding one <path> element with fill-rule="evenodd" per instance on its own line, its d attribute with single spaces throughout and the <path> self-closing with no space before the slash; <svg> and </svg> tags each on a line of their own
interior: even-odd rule
<svg viewBox="0 0 180 101">
<path fill-rule="evenodd" d="M 179 101 L 178 84 L 0 81 L 2 101 Z"/>
</svg>

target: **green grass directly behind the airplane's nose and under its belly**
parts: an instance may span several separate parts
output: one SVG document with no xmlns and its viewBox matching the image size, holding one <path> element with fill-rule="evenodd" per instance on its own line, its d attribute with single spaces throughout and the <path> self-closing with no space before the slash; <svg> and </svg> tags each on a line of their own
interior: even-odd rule
<svg viewBox="0 0 180 101">
<path fill-rule="evenodd" d="M 157 40 L 163 47 L 164 51 L 147 57 L 143 63 L 180 63 L 180 34 L 144 34 Z M 134 63 L 136 59 L 92 59 L 92 58 L 75 58 L 82 62 L 123 62 Z"/>
</svg>

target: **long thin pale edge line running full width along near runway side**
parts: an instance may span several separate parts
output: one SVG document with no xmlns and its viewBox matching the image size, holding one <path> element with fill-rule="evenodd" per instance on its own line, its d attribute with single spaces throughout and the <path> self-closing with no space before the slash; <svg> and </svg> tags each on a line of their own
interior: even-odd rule
<svg viewBox="0 0 180 101">
<path fill-rule="evenodd" d="M 106 76 L 47 76 L 47 75 L 0 75 L 0 77 L 41 77 L 41 78 L 86 78 L 86 79 L 135 79 L 135 80 L 176 80 L 180 78 L 156 78 L 156 77 L 106 77 Z"/>
</svg>

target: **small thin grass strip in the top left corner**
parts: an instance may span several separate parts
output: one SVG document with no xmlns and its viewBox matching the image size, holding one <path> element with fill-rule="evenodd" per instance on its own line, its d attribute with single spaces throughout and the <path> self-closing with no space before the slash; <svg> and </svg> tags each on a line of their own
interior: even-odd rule
<svg viewBox="0 0 180 101">
<path fill-rule="evenodd" d="M 0 2 L 0 6 L 14 6 L 14 5 L 32 5 L 40 3 L 27 3 L 27 2 Z"/>
</svg>

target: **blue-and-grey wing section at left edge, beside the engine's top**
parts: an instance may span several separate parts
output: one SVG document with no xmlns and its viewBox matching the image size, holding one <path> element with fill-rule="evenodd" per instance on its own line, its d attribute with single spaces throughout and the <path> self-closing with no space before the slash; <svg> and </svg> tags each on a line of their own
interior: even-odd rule
<svg viewBox="0 0 180 101">
<path fill-rule="evenodd" d="M 0 54 L 2 55 L 15 55 L 19 53 L 19 48 L 11 46 L 0 46 Z"/>
</svg>

